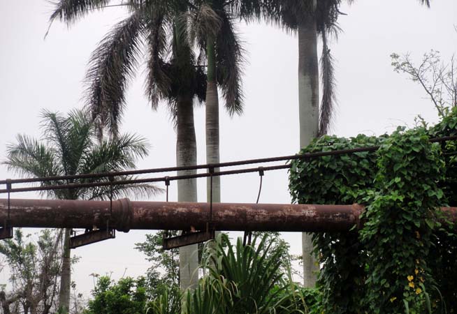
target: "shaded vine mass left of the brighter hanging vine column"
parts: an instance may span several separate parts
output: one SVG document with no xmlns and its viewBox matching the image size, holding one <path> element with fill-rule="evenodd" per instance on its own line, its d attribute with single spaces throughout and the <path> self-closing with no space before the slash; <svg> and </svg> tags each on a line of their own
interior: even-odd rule
<svg viewBox="0 0 457 314">
<path fill-rule="evenodd" d="M 370 147 L 384 140 L 385 137 L 365 135 L 351 139 L 324 136 L 300 154 Z M 370 189 L 376 169 L 376 157 L 368 152 L 295 160 L 291 163 L 289 190 L 298 203 L 352 204 L 360 202 L 364 191 Z M 324 267 L 318 278 L 324 310 L 335 314 L 358 313 L 360 295 L 365 294 L 361 283 L 365 279 L 357 232 L 314 234 L 313 242 Z"/>
</svg>

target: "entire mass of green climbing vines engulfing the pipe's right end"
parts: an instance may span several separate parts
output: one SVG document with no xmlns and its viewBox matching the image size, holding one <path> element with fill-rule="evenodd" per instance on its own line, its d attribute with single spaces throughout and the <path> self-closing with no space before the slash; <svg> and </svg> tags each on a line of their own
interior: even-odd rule
<svg viewBox="0 0 457 314">
<path fill-rule="evenodd" d="M 291 162 L 294 202 L 365 205 L 360 229 L 313 236 L 324 313 L 456 313 L 457 240 L 438 209 L 456 205 L 457 145 L 430 142 L 456 134 L 453 110 L 432 128 L 324 136 L 300 154 L 377 151 Z"/>
</svg>

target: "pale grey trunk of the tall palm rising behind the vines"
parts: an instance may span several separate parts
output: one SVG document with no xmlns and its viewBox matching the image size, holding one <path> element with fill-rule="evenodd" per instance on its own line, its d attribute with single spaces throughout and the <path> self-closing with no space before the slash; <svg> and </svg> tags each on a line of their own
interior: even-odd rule
<svg viewBox="0 0 457 314">
<path fill-rule="evenodd" d="M 315 0 L 314 0 L 315 4 Z M 298 106 L 300 148 L 310 144 L 319 131 L 319 62 L 314 18 L 298 26 Z M 319 265 L 312 255 L 312 234 L 302 233 L 303 284 L 314 287 Z"/>
</svg>

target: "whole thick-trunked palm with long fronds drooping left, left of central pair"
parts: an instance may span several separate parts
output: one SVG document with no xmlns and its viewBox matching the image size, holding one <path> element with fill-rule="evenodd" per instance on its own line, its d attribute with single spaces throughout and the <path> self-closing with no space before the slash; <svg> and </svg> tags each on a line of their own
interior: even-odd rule
<svg viewBox="0 0 457 314">
<path fill-rule="evenodd" d="M 92 10 L 108 6 L 108 0 L 60 0 L 50 18 L 72 24 Z M 189 44 L 187 23 L 180 18 L 189 3 L 180 0 L 124 1 L 129 16 L 106 35 L 89 61 L 85 98 L 92 117 L 109 126 L 115 136 L 126 105 L 125 91 L 136 73 L 140 47 L 147 49 L 146 94 L 155 110 L 166 100 L 177 132 L 177 166 L 196 165 L 194 98 L 205 99 L 205 73 L 196 65 Z M 194 174 L 196 170 L 179 174 Z M 196 179 L 177 183 L 178 202 L 197 202 Z M 198 247 L 180 248 L 180 284 L 183 290 L 198 282 Z"/>
</svg>

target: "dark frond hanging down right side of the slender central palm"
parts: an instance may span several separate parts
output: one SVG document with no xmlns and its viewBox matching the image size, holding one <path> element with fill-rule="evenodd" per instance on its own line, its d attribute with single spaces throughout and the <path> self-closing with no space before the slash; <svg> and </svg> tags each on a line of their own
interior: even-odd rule
<svg viewBox="0 0 457 314">
<path fill-rule="evenodd" d="M 216 40 L 217 81 L 222 89 L 229 114 L 242 114 L 242 49 L 233 19 L 224 10 L 218 10 L 222 25 Z"/>
</svg>

